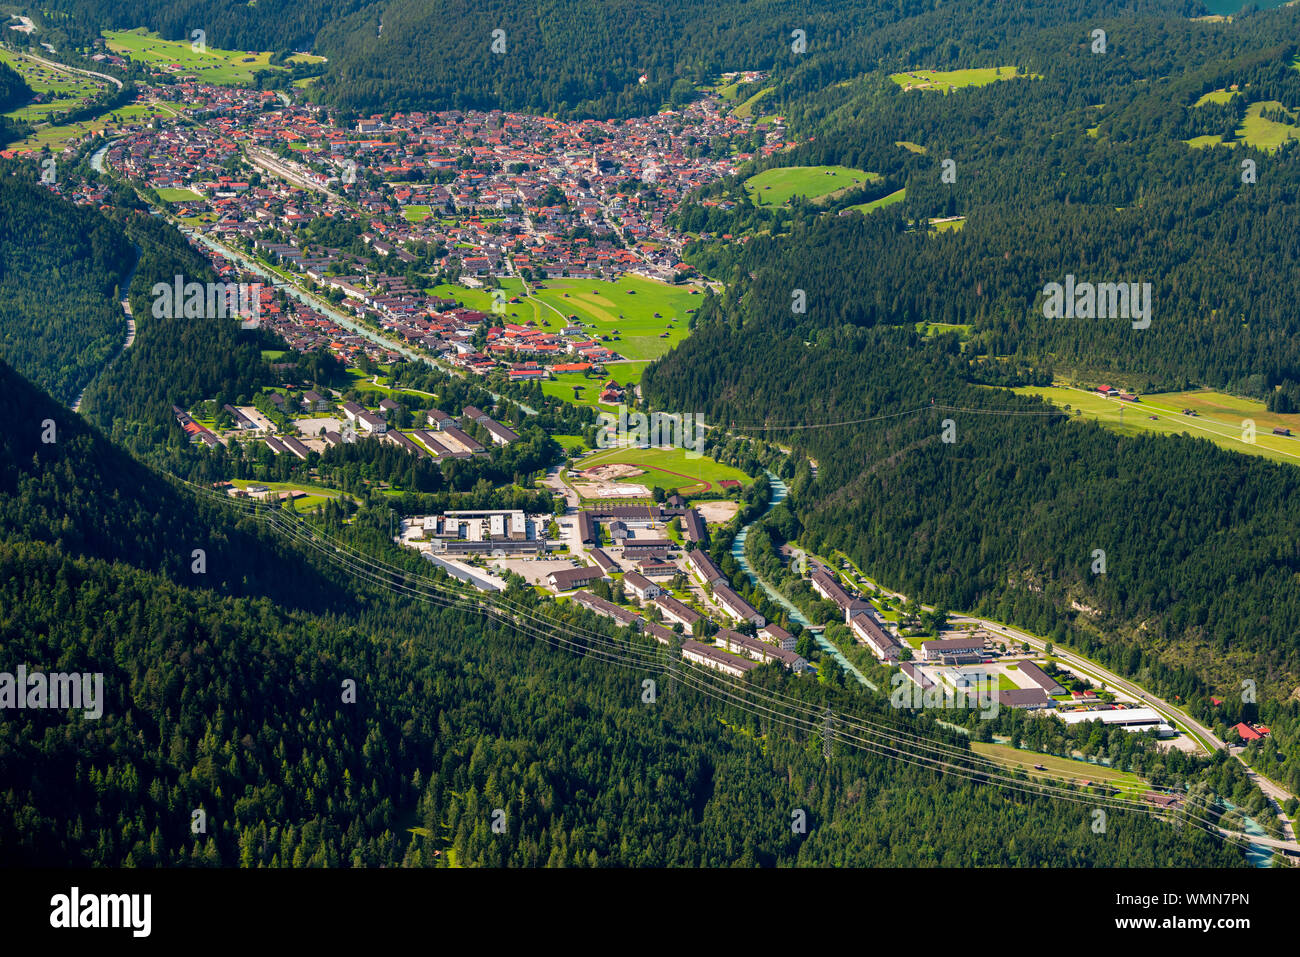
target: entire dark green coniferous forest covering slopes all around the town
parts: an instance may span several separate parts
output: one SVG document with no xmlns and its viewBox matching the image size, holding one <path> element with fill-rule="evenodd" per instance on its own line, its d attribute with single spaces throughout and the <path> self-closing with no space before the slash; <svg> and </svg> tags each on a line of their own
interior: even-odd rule
<svg viewBox="0 0 1300 957">
<path fill-rule="evenodd" d="M 216 47 L 316 49 L 329 62 L 303 95 L 343 122 L 411 109 L 636 117 L 685 104 L 722 70 L 764 72 L 763 111 L 797 144 L 755 148 L 672 216 L 684 261 L 711 289 L 690 335 L 641 380 L 645 408 L 699 412 L 720 436 L 714 458 L 759 476 L 715 529 L 712 558 L 789 623 L 731 550 L 768 505 L 762 473 L 779 472 L 789 498 L 751 527 L 745 555 L 824 624 L 842 629 L 838 610 L 789 571 L 783 546 L 840 554 L 919 602 L 1044 636 L 1216 729 L 1268 722 L 1271 739 L 1245 761 L 1297 793 L 1300 471 L 1190 436 L 1106 429 L 1011 391 L 1113 381 L 1300 410 L 1300 148 L 1239 133 L 1252 104 L 1283 104 L 1269 114 L 1279 124 L 1300 116 L 1300 8 L 1228 30 L 1196 20 L 1191 0 L 1128 7 L 52 0 L 40 16 L 70 44 L 104 27 L 176 39 L 202 23 Z M 1093 26 L 1109 33 L 1106 56 L 1089 49 Z M 514 56 L 491 51 L 498 27 Z M 794 29 L 806 56 L 789 49 Z M 1014 73 L 949 92 L 890 78 L 922 65 Z M 0 66 L 0 107 L 30 94 L 14 79 Z M 1202 101 L 1227 90 L 1240 95 Z M 1219 143 L 1188 143 L 1206 137 Z M 745 187 L 770 168 L 816 165 L 878 177 L 823 202 L 764 204 Z M 541 387 L 493 395 L 398 363 L 404 387 L 458 412 L 495 408 L 519 432 L 443 465 L 374 438 L 302 460 L 195 446 L 173 406 L 251 402 L 280 381 L 266 354 L 285 343 L 151 316 L 155 282 L 214 274 L 164 217 L 112 189 L 103 205 L 74 207 L 21 164 L 0 168 L 0 648 L 9 670 L 104 675 L 99 719 L 5 715 L 0 866 L 1247 865 L 1186 813 L 1117 810 L 1097 840 L 1072 794 L 844 739 L 828 758 L 815 728 L 705 684 L 675 683 L 647 706 L 642 680 L 666 674 L 623 664 L 658 654 L 655 642 L 519 576 L 486 614 L 394 546 L 393 523 L 550 511 L 538 477 L 568 455 L 554 436 L 593 430 L 594 412 Z M 1149 282 L 1149 328 L 1048 319 L 1044 286 L 1067 274 Z M 125 352 L 122 296 L 139 317 Z M 304 381 L 348 381 L 324 350 L 280 360 Z M 254 477 L 346 494 L 303 516 L 213 493 Z M 1161 787 L 1231 796 L 1277 828 L 1226 753 L 1162 754 L 1150 739 L 1020 713 L 940 723 L 864 693 L 800 631 L 816 679 L 764 666 L 745 680 L 807 714 L 941 745 L 963 771 L 972 742 L 994 735 L 1044 753 L 1078 746 Z M 1238 703 L 1244 680 L 1258 702 Z M 792 832 L 794 811 L 805 833 Z"/>
</svg>

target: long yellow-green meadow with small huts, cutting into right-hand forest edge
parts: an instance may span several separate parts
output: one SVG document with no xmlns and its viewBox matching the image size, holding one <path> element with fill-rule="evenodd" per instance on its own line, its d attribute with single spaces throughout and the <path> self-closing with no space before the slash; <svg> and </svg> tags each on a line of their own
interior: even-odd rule
<svg viewBox="0 0 1300 957">
<path fill-rule="evenodd" d="M 1262 402 L 1240 399 L 1210 390 L 1154 393 L 1141 402 L 1108 399 L 1096 393 L 1063 386 L 1015 389 L 1020 395 L 1041 395 L 1057 407 L 1082 410 L 1083 419 L 1126 434 L 1154 432 L 1167 436 L 1208 438 L 1221 449 L 1262 455 L 1273 462 L 1300 464 L 1300 437 L 1274 436 L 1274 428 L 1287 428 L 1300 436 L 1300 415 L 1269 412 Z M 1183 415 L 1184 408 L 1197 412 Z M 1123 419 L 1121 420 L 1121 411 Z M 1150 416 L 1154 416 L 1152 419 Z M 1254 423 L 1254 442 L 1243 441 L 1243 421 Z"/>
</svg>

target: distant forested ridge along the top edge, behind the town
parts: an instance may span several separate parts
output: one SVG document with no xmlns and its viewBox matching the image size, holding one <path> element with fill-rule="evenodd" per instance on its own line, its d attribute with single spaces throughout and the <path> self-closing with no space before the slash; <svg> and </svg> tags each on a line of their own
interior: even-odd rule
<svg viewBox="0 0 1300 957">
<path fill-rule="evenodd" d="M 313 95 L 358 112 L 502 108 L 580 116 L 637 116 L 692 95 L 724 70 L 774 70 L 805 92 L 874 70 L 924 61 L 945 66 L 970 49 L 1087 17 L 1118 16 L 1123 3 L 953 0 L 55 0 L 74 14 L 51 20 L 82 42 L 96 27 L 148 26 L 168 39 L 207 31 L 233 49 L 312 47 L 329 57 Z M 1144 4 L 1191 16 L 1191 0 Z M 380 29 L 382 25 L 382 30 Z M 493 52 L 494 30 L 504 52 Z M 806 47 L 794 52 L 794 30 Z M 645 83 L 641 77 L 645 75 Z"/>
</svg>

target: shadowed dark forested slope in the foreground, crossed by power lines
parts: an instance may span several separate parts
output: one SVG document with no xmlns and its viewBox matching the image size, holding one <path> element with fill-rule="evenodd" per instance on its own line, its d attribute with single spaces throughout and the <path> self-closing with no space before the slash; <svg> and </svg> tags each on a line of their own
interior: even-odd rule
<svg viewBox="0 0 1300 957">
<path fill-rule="evenodd" d="M 98 720 L 6 718 L 5 865 L 1240 862 L 1145 814 L 1117 814 L 1117 839 L 1097 840 L 1086 814 L 1045 798 L 852 750 L 827 767 L 815 736 L 685 688 L 647 709 L 637 672 L 360 588 L 224 506 L 142 486 L 139 467 L 3 365 L 0 415 L 0 645 L 32 670 L 103 672 L 105 689 Z M 55 443 L 38 438 L 47 419 Z M 182 512 L 194 521 L 176 528 Z M 60 531 L 86 527 L 101 538 Z M 244 597 L 165 558 L 211 541 L 231 546 L 213 546 L 209 573 L 242 577 Z M 266 562 L 296 602 L 255 573 Z M 339 602 L 309 584 L 326 573 Z M 792 809 L 809 814 L 806 839 Z"/>
</svg>

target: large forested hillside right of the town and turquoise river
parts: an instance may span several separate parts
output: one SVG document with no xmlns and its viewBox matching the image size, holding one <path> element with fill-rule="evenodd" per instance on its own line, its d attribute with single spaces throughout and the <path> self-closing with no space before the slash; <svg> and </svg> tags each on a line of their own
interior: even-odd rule
<svg viewBox="0 0 1300 957">
<path fill-rule="evenodd" d="M 651 403 L 814 458 L 816 478 L 793 497 L 802 544 L 842 550 L 922 601 L 1066 642 L 1206 720 L 1222 720 L 1212 694 L 1258 681 L 1294 729 L 1295 468 L 1197 439 L 1117 436 L 987 386 L 1065 372 L 1290 400 L 1300 150 L 1253 148 L 1238 125 L 1247 103 L 1300 105 L 1297 25 L 1295 8 L 1239 30 L 1112 25 L 1106 57 L 1082 29 L 1048 31 L 1017 60 L 1036 78 L 948 95 L 868 78 L 797 100 L 819 135 L 767 165 L 879 170 L 871 191 L 906 198 L 866 215 L 846 207 L 872 195 L 777 209 L 722 183 L 702 199 L 734 209 L 684 209 L 684 229 L 711 234 L 690 259 L 728 290 L 646 372 Z M 1240 96 L 1199 113 L 1200 98 L 1228 88 Z M 1236 146 L 1183 142 L 1210 129 Z M 954 182 L 941 178 L 945 159 Z M 961 229 L 927 228 L 950 216 Z M 1149 328 L 1045 319 L 1044 283 L 1067 274 L 1152 282 Z M 918 322 L 954 328 L 926 338 Z M 1104 575 L 1092 571 L 1098 549 Z M 1270 766 L 1296 787 L 1300 762 L 1283 752 Z"/>
</svg>

